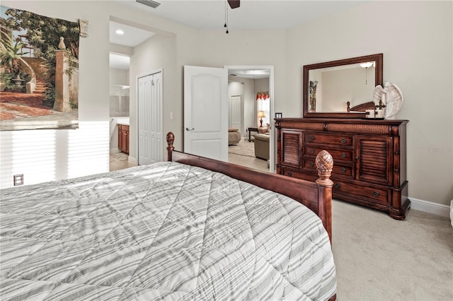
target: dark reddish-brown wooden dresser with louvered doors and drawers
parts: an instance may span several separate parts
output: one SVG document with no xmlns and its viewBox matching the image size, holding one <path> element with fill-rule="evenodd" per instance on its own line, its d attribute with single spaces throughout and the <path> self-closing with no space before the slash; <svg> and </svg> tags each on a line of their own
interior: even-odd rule
<svg viewBox="0 0 453 301">
<path fill-rule="evenodd" d="M 333 156 L 333 198 L 386 211 L 403 220 L 411 201 L 406 181 L 407 120 L 275 119 L 277 173 L 313 181 L 315 158 Z"/>
</svg>

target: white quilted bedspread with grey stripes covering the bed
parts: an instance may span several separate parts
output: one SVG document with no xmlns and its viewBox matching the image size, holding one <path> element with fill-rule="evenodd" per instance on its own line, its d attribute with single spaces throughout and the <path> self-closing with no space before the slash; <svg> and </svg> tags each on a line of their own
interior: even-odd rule
<svg viewBox="0 0 453 301">
<path fill-rule="evenodd" d="M 199 167 L 155 163 L 2 189 L 0 299 L 327 300 L 321 220 Z"/>
</svg>

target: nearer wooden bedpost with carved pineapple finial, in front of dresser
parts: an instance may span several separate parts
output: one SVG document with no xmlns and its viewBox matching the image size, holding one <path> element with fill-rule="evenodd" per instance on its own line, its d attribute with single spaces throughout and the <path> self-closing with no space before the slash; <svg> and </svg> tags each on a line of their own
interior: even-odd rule
<svg viewBox="0 0 453 301">
<path fill-rule="evenodd" d="M 318 216 L 321 218 L 328 232 L 328 238 L 332 243 L 332 187 L 333 182 L 330 179 L 332 175 L 333 158 L 327 151 L 320 151 L 316 155 L 316 167 L 318 168 L 319 198 L 323 199 L 318 203 Z"/>
</svg>

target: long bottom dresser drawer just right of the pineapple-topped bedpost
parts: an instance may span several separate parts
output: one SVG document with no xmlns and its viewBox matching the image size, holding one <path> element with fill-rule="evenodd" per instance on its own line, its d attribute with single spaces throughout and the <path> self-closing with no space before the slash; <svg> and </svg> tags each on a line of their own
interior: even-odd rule
<svg viewBox="0 0 453 301">
<path fill-rule="evenodd" d="M 391 191 L 389 189 L 381 189 L 377 187 L 363 187 L 360 185 L 350 184 L 341 181 L 333 181 L 333 192 L 345 193 L 348 196 L 355 196 L 357 199 L 378 203 L 380 205 L 388 205 Z"/>
</svg>

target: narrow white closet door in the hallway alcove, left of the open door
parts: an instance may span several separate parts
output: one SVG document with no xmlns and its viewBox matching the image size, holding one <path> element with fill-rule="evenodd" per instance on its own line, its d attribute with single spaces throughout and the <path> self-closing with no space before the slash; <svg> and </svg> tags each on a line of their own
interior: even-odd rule
<svg viewBox="0 0 453 301">
<path fill-rule="evenodd" d="M 162 161 L 162 71 L 137 78 L 139 165 Z"/>
</svg>

